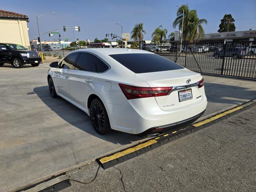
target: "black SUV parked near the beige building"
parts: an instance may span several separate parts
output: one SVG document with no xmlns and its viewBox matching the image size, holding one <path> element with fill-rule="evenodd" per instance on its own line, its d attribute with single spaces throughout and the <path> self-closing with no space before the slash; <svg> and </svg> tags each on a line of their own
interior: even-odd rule
<svg viewBox="0 0 256 192">
<path fill-rule="evenodd" d="M 41 57 L 35 51 L 29 51 L 19 44 L 0 43 L 0 66 L 10 63 L 15 68 L 22 68 L 25 64 L 36 67 L 40 62 Z"/>
</svg>

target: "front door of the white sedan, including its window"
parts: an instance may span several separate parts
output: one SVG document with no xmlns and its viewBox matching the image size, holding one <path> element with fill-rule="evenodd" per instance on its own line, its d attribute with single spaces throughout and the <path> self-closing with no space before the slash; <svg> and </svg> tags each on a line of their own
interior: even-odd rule
<svg viewBox="0 0 256 192">
<path fill-rule="evenodd" d="M 69 74 L 74 70 L 74 63 L 79 54 L 80 52 L 75 52 L 66 56 L 59 64 L 59 68 L 54 71 L 54 85 L 56 92 L 68 98 L 70 98 L 70 90 L 68 86 Z"/>
</svg>

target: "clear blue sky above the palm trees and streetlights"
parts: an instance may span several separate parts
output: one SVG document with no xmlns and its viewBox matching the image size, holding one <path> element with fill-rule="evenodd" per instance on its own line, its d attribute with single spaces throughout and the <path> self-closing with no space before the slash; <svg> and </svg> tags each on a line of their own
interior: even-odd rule
<svg viewBox="0 0 256 192">
<path fill-rule="evenodd" d="M 41 2 L 41 3 L 40 3 Z M 62 26 L 80 26 L 81 32 L 75 32 L 75 38 L 91 41 L 94 38 L 103 39 L 106 33 L 121 35 L 131 32 L 134 24 L 142 22 L 146 35 L 151 34 L 160 24 L 170 34 L 174 29 L 172 22 L 176 18 L 176 4 L 188 4 L 190 9 L 196 9 L 199 18 L 208 20 L 204 25 L 206 33 L 217 32 L 220 20 L 224 14 L 232 14 L 236 20 L 236 30 L 256 29 L 256 0 L 1 0 L 0 9 L 26 14 L 30 22 L 30 40 L 37 38 L 38 30 L 36 16 L 46 12 L 56 12 L 39 18 L 40 32 Z M 73 37 L 72 30 L 59 30 L 62 35 Z M 42 40 L 53 40 L 58 36 L 42 36 Z"/>
</svg>

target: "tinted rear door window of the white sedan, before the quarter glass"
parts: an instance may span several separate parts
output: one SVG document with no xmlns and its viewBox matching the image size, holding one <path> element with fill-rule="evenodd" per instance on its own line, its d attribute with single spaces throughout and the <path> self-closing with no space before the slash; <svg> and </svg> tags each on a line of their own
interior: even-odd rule
<svg viewBox="0 0 256 192">
<path fill-rule="evenodd" d="M 96 57 L 94 55 L 82 52 L 76 62 L 75 69 L 97 72 L 95 59 Z"/>
</svg>

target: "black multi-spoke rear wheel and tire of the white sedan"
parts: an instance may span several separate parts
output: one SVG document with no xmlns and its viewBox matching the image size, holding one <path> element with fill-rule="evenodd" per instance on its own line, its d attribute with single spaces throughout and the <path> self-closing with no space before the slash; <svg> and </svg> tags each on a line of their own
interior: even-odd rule
<svg viewBox="0 0 256 192">
<path fill-rule="evenodd" d="M 108 113 L 99 99 L 92 100 L 90 104 L 90 119 L 92 126 L 98 134 L 105 135 L 111 132 Z"/>
</svg>

